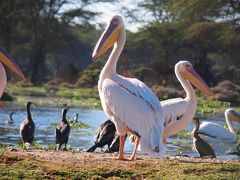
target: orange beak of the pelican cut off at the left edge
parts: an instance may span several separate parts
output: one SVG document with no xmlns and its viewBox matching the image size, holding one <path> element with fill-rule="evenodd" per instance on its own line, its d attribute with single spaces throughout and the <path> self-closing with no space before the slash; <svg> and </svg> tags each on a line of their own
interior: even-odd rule
<svg viewBox="0 0 240 180">
<path fill-rule="evenodd" d="M 3 49 L 0 49 L 0 61 L 5 64 L 9 69 L 11 69 L 14 73 L 20 76 L 22 79 L 25 79 L 22 70 Z"/>
</svg>

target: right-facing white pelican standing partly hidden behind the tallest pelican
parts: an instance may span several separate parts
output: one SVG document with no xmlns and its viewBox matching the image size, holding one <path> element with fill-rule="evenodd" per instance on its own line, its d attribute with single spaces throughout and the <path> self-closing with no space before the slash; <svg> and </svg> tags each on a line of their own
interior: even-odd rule
<svg viewBox="0 0 240 180">
<path fill-rule="evenodd" d="M 210 88 L 193 69 L 190 62 L 179 61 L 175 65 L 175 74 L 186 91 L 187 96 L 184 99 L 175 98 L 161 102 L 165 115 L 164 141 L 169 136 L 185 129 L 193 119 L 197 109 L 197 99 L 190 82 L 206 95 L 213 95 Z"/>
</svg>

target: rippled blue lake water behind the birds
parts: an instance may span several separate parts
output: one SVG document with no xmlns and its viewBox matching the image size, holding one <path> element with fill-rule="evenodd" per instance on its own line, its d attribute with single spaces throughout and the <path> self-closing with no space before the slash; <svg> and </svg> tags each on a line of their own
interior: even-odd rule
<svg viewBox="0 0 240 180">
<path fill-rule="evenodd" d="M 14 124 L 6 124 L 6 120 L 9 119 L 10 112 L 13 111 Z M 74 113 L 79 114 L 79 121 L 82 121 L 91 128 L 79 129 L 72 128 L 68 144 L 73 149 L 87 150 L 93 145 L 93 137 L 97 127 L 107 120 L 104 112 L 96 109 L 81 109 L 81 108 L 70 108 L 67 117 L 73 119 Z M 24 107 L 11 106 L 5 110 L 0 110 L 0 143 L 8 145 L 17 145 L 20 142 L 19 138 L 19 127 L 21 122 L 26 117 L 26 110 Z M 51 126 L 53 122 L 59 122 L 61 119 L 61 108 L 57 107 L 36 107 L 32 109 L 32 118 L 36 125 L 35 141 L 42 145 L 48 146 L 48 144 L 55 143 L 55 127 Z M 217 122 L 224 124 L 225 120 L 223 115 L 221 117 L 201 118 L 201 121 Z M 238 128 L 239 124 L 234 124 Z M 191 123 L 186 129 L 187 132 L 191 132 L 194 128 L 194 124 Z M 211 144 L 215 150 L 217 157 L 223 158 L 238 158 L 235 155 L 225 155 L 226 151 L 236 151 L 236 143 L 217 143 Z M 192 151 L 192 139 L 191 138 L 169 138 L 167 141 L 168 154 L 176 155 L 179 153 L 187 154 L 189 156 L 198 156 L 198 154 Z M 131 153 L 133 150 L 133 144 L 127 139 L 125 145 L 125 152 Z M 98 150 L 100 151 L 100 150 Z"/>
</svg>

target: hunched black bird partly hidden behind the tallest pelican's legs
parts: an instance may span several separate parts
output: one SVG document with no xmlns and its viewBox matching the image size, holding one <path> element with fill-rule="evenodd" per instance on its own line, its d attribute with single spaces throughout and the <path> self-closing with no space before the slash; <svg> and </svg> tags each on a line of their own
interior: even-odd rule
<svg viewBox="0 0 240 180">
<path fill-rule="evenodd" d="M 87 152 L 93 152 L 97 148 L 103 148 L 105 145 L 108 146 L 106 152 L 119 151 L 119 136 L 116 133 L 114 123 L 110 120 L 107 120 L 98 127 L 94 137 L 94 145 Z"/>
</svg>

